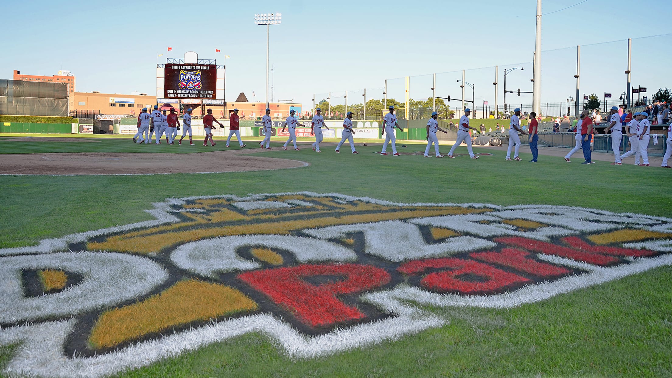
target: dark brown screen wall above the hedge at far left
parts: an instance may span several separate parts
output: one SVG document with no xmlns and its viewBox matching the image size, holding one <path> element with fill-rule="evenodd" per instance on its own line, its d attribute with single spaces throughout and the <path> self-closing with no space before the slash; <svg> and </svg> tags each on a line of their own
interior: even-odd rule
<svg viewBox="0 0 672 378">
<path fill-rule="evenodd" d="M 67 83 L 0 80 L 0 114 L 68 116 Z"/>
</svg>

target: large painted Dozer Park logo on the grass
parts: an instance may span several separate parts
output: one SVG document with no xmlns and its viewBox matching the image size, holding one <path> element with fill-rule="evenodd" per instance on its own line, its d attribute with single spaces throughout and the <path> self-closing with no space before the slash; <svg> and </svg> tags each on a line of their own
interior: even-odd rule
<svg viewBox="0 0 672 378">
<path fill-rule="evenodd" d="M 169 199 L 144 221 L 0 250 L 3 373 L 98 377 L 247 332 L 294 358 L 672 264 L 672 219 L 310 192 Z"/>
</svg>

